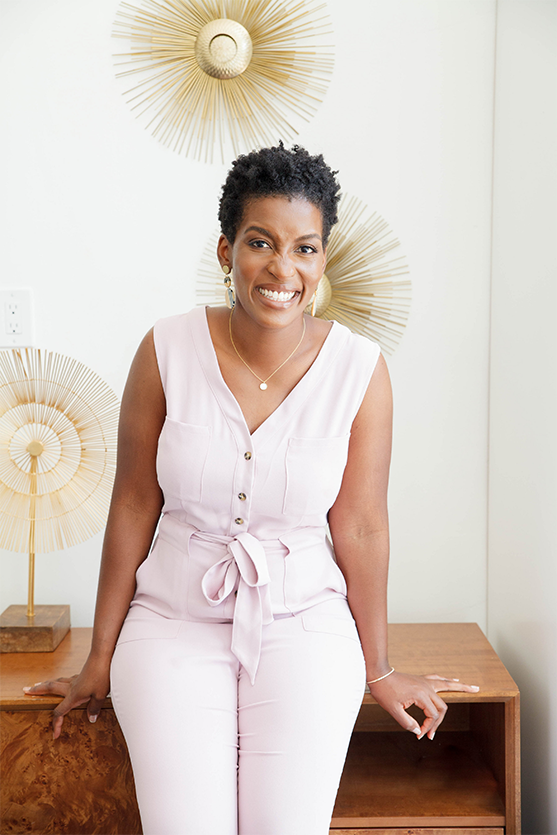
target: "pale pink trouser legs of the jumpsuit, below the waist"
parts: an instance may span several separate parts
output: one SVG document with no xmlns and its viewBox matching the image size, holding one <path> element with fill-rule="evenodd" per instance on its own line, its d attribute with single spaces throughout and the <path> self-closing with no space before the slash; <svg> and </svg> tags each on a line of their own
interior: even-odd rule
<svg viewBox="0 0 557 835">
<path fill-rule="evenodd" d="M 265 626 L 254 685 L 230 623 L 158 620 L 112 661 L 144 835 L 327 835 L 365 686 L 346 602 Z"/>
</svg>

